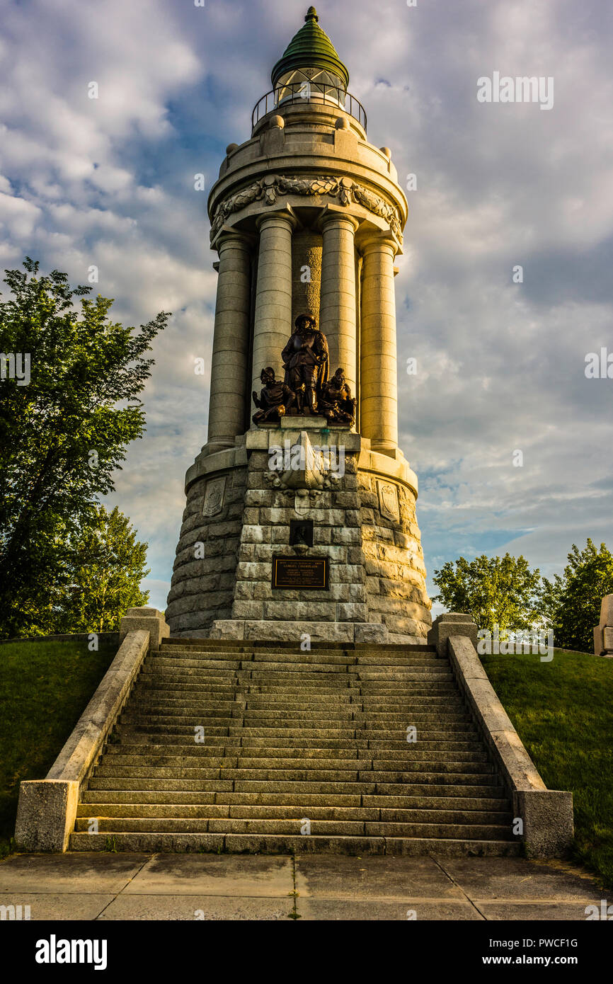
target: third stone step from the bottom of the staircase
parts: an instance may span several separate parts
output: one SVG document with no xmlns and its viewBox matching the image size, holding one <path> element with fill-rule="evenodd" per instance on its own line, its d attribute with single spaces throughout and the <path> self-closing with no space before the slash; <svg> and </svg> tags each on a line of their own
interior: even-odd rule
<svg viewBox="0 0 613 984">
<path fill-rule="evenodd" d="M 88 830 L 88 822 L 93 819 L 104 820 L 266 820 L 293 821 L 307 817 L 309 820 L 351 821 L 352 823 L 382 824 L 435 824 L 437 826 L 476 826 L 511 828 L 513 817 L 510 811 L 483 810 L 437 810 L 437 809 L 381 809 L 376 806 L 280 806 L 246 804 L 152 804 L 152 803 L 82 803 L 77 816 L 81 822 L 79 830 Z M 231 830 L 228 828 L 228 830 Z M 248 832 L 248 831 L 245 831 Z"/>
</svg>

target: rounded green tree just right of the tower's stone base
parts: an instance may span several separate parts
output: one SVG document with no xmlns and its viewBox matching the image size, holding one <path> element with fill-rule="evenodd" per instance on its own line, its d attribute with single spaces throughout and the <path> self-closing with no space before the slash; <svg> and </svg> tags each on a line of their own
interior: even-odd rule
<svg viewBox="0 0 613 984">
<path fill-rule="evenodd" d="M 492 632 L 498 625 L 502 638 L 507 630 L 530 629 L 539 621 L 540 573 L 530 571 L 524 557 L 460 557 L 435 571 L 433 580 L 440 591 L 433 601 L 472 615 L 479 629 Z"/>
</svg>

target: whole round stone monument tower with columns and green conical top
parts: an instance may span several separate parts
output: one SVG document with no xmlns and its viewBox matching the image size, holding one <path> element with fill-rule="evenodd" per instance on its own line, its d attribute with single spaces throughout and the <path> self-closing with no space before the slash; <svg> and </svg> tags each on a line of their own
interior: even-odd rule
<svg viewBox="0 0 613 984">
<path fill-rule="evenodd" d="M 412 642 L 430 626 L 417 478 L 398 448 L 406 199 L 314 7 L 209 198 L 209 433 L 171 635 Z"/>
</svg>

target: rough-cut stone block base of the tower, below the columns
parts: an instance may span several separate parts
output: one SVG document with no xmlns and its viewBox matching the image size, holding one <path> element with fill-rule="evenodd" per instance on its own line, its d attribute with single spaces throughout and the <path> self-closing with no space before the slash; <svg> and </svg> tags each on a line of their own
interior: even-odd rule
<svg viewBox="0 0 613 984">
<path fill-rule="evenodd" d="M 344 448 L 343 473 L 321 489 L 287 489 L 269 470 L 270 447 L 299 441 L 294 420 L 249 431 L 244 444 L 205 454 L 188 472 L 165 612 L 172 636 L 279 639 L 281 632 L 287 639 L 306 633 L 331 642 L 398 643 L 426 636 L 430 601 L 414 475 L 399 453 L 374 454 L 358 434 L 308 423 L 313 445 Z M 213 494 L 219 480 L 220 504 Z M 203 507 L 218 512 L 203 516 Z M 304 555 L 289 546 L 297 519 L 313 521 L 307 556 L 329 559 L 326 590 L 272 585 L 275 555 Z"/>
</svg>

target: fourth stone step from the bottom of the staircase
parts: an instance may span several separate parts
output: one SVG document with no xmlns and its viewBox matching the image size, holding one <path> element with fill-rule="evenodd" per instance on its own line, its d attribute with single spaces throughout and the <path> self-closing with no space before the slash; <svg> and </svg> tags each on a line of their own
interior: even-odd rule
<svg viewBox="0 0 613 984">
<path fill-rule="evenodd" d="M 337 793 L 233 793 L 233 792 L 185 792 L 183 790 L 144 790 L 144 789 L 88 789 L 83 794 L 79 805 L 79 816 L 92 816 L 93 809 L 104 811 L 111 806 L 132 805 L 146 809 L 152 806 L 193 805 L 206 808 L 207 805 L 222 805 L 234 807 L 376 807 L 377 809 L 393 810 L 451 810 L 480 812 L 496 815 L 508 814 L 509 802 L 504 797 L 469 797 L 469 796 L 376 796 L 361 794 L 350 795 Z M 109 816 L 109 814 L 105 814 Z M 127 815 L 126 815 L 127 816 Z M 498 821 L 494 821 L 498 823 Z"/>
</svg>

